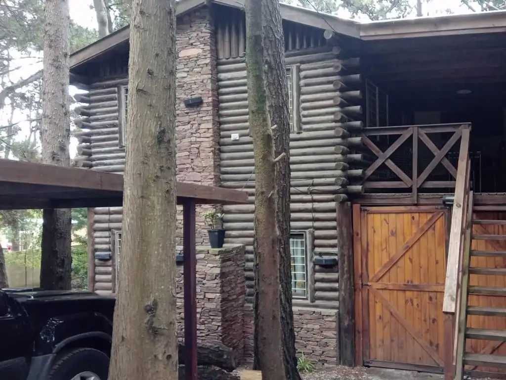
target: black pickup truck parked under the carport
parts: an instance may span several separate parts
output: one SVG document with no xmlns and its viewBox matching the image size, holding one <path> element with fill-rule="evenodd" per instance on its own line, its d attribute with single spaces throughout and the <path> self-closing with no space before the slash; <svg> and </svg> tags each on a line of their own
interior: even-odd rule
<svg viewBox="0 0 506 380">
<path fill-rule="evenodd" d="M 0 289 L 1 380 L 106 380 L 114 298 Z"/>
</svg>

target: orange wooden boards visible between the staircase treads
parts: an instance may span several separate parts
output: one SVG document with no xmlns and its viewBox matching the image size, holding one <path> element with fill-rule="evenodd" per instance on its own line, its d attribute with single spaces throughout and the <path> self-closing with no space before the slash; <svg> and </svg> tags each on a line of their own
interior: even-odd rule
<svg viewBox="0 0 506 380">
<path fill-rule="evenodd" d="M 505 212 L 477 211 L 475 219 L 506 220 Z M 476 235 L 506 235 L 506 225 L 473 225 Z M 479 251 L 506 251 L 506 242 L 502 240 L 473 240 L 471 249 Z M 506 259 L 503 257 L 471 257 L 471 267 L 479 268 L 505 268 Z M 506 288 L 504 276 L 470 275 L 471 286 L 490 286 Z M 506 297 L 490 295 L 469 295 L 469 306 L 492 308 L 506 308 Z M 468 327 L 492 330 L 506 330 L 506 318 L 497 316 L 468 316 Z M 503 341 L 490 341 L 480 339 L 467 339 L 466 351 L 479 354 L 506 355 L 506 345 Z M 505 369 L 467 366 L 467 370 L 490 372 L 506 372 Z"/>
</svg>

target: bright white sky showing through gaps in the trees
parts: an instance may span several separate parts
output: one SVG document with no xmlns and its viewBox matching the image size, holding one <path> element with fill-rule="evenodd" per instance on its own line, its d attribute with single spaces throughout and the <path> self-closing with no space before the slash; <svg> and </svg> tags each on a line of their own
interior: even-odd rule
<svg viewBox="0 0 506 380">
<path fill-rule="evenodd" d="M 453 13 L 455 14 L 462 14 L 462 13 L 471 13 L 472 11 L 469 10 L 466 6 L 463 6 L 460 2 L 460 0 L 431 0 L 429 3 L 424 1 L 423 9 L 424 14 L 429 16 L 437 16 L 441 14 L 445 14 L 446 9 L 451 9 Z M 296 3 L 296 0 L 291 0 L 291 3 Z M 473 4 L 473 2 L 470 2 Z M 69 7 L 70 7 L 70 17 L 71 19 L 81 25 L 88 28 L 94 28 L 97 29 L 97 21 L 95 18 L 95 11 L 92 8 L 93 0 L 69 0 Z M 476 5 L 476 4 L 474 4 Z M 478 8 L 478 7 L 476 7 Z M 343 18 L 349 18 L 349 13 L 344 10 L 340 10 L 338 13 L 339 17 Z M 412 14 L 410 17 L 414 17 L 415 15 Z M 358 20 L 365 22 L 366 19 L 359 18 Z M 27 60 L 23 60 L 24 64 L 27 64 Z M 17 76 L 19 78 L 26 78 L 29 77 L 30 74 L 36 72 L 41 68 L 41 64 L 31 64 L 28 66 L 23 67 L 22 69 L 18 70 Z M 15 79 L 13 75 L 13 79 Z M 73 95 L 76 93 L 76 89 L 71 87 L 70 88 L 70 95 Z M 8 107 L 6 107 L 8 108 Z M 0 114 L 0 125 L 7 124 L 5 123 L 7 115 L 9 111 L 7 109 L 4 110 L 3 115 Z M 15 122 L 19 120 L 26 119 L 26 116 L 22 115 L 21 113 L 19 115 L 15 115 Z M 25 124 L 25 125 L 23 125 Z M 22 132 L 20 133 L 21 136 L 27 136 L 29 133 L 28 125 L 27 123 L 21 123 L 20 124 L 22 128 Z M 75 157 L 76 154 L 76 147 L 77 147 L 77 140 L 75 138 L 71 139 L 70 142 L 70 155 L 71 157 Z"/>
</svg>

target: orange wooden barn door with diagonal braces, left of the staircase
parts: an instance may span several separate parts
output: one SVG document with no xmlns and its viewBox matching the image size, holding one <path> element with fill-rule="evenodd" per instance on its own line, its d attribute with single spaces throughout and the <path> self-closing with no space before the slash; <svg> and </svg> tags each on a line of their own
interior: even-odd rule
<svg viewBox="0 0 506 380">
<path fill-rule="evenodd" d="M 354 205 L 357 364 L 441 371 L 445 213 Z"/>
</svg>

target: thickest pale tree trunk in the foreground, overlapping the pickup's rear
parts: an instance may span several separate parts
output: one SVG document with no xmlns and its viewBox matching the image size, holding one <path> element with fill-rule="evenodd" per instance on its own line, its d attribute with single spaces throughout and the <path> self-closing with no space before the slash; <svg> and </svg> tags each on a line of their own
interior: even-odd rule
<svg viewBox="0 0 506 380">
<path fill-rule="evenodd" d="M 175 63 L 175 0 L 134 0 L 123 245 L 109 380 L 178 378 L 172 256 L 176 252 Z"/>
</svg>

